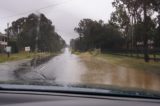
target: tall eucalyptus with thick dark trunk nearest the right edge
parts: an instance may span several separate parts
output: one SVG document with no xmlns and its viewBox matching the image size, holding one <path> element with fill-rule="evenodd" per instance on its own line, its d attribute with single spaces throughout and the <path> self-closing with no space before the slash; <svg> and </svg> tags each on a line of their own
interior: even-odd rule
<svg viewBox="0 0 160 106">
<path fill-rule="evenodd" d="M 158 0 L 114 0 L 113 2 L 113 6 L 116 7 L 118 14 L 121 14 L 119 8 L 123 7 L 123 11 L 126 12 L 131 19 L 131 25 L 137 24 L 138 22 L 143 23 L 144 59 L 146 62 L 149 61 L 148 40 L 151 29 L 149 21 L 155 13 L 157 3 Z M 124 21 L 127 19 L 121 15 L 118 15 L 118 17 Z"/>
</svg>

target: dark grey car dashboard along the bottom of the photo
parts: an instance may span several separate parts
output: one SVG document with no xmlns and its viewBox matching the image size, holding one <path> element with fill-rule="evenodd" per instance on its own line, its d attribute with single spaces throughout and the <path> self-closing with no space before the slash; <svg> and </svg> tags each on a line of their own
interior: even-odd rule
<svg viewBox="0 0 160 106">
<path fill-rule="evenodd" d="M 159 106 L 159 99 L 112 96 L 0 91 L 1 106 Z"/>
</svg>

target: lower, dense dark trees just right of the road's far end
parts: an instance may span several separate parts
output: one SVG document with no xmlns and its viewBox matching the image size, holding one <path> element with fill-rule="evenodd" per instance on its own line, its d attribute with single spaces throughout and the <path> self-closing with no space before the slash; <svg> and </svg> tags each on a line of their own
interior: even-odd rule
<svg viewBox="0 0 160 106">
<path fill-rule="evenodd" d="M 123 45 L 123 37 L 117 26 L 112 23 L 105 24 L 102 20 L 97 22 L 83 19 L 75 31 L 79 37 L 71 40 L 71 46 L 80 51 L 95 48 L 115 49 Z"/>
</svg>

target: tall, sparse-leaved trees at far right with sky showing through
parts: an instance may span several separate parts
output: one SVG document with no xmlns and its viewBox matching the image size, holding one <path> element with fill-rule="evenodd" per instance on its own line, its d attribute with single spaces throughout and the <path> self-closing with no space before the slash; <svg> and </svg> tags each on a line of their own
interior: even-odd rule
<svg viewBox="0 0 160 106">
<path fill-rule="evenodd" d="M 131 41 L 131 48 L 136 47 L 137 42 L 143 42 L 145 61 L 148 61 L 148 40 L 154 40 L 155 47 L 158 46 L 156 38 L 155 13 L 160 12 L 159 0 L 114 0 L 113 7 L 116 11 L 112 13 L 111 22 L 116 23 L 126 36 L 126 42 Z M 158 23 L 159 24 L 159 23 Z"/>
</svg>

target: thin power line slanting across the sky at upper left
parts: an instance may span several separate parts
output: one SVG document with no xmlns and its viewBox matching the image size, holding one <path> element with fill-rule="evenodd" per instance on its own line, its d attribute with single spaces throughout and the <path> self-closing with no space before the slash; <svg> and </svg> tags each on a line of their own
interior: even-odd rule
<svg viewBox="0 0 160 106">
<path fill-rule="evenodd" d="M 56 3 L 56 4 L 51 4 L 51 5 L 48 5 L 48 6 L 45 6 L 45 7 L 41 7 L 41 8 L 38 8 L 38 9 L 34 9 L 34 10 L 29 10 L 29 11 L 26 11 L 26 12 L 22 12 L 22 13 L 18 13 L 18 14 L 15 14 L 15 15 L 11 15 L 11 16 L 6 16 L 6 17 L 2 17 L 1 19 L 6 19 L 6 18 L 12 18 L 12 17 L 16 17 L 16 16 L 21 16 L 21 15 L 24 15 L 24 14 L 27 14 L 27 13 L 30 13 L 30 12 L 35 12 L 35 11 L 40 11 L 40 10 L 44 10 L 44 9 L 47 9 L 47 8 L 51 8 L 51 7 L 57 7 L 59 5 L 62 5 L 62 4 L 66 4 L 68 2 L 71 2 L 73 0 L 66 0 L 64 2 L 61 2 L 61 3 Z"/>
</svg>

